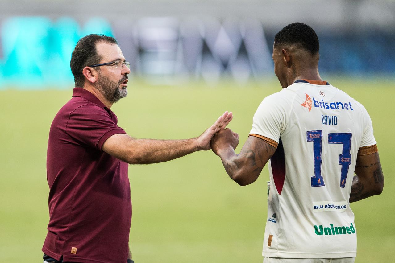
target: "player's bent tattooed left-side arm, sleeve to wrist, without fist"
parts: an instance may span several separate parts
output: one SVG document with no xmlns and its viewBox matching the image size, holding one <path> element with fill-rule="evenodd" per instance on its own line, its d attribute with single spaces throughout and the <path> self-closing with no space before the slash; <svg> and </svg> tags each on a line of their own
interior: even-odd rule
<svg viewBox="0 0 395 263">
<path fill-rule="evenodd" d="M 250 136 L 240 154 L 229 149 L 221 154 L 225 170 L 235 182 L 244 186 L 254 182 L 276 148 L 263 139 Z"/>
</svg>

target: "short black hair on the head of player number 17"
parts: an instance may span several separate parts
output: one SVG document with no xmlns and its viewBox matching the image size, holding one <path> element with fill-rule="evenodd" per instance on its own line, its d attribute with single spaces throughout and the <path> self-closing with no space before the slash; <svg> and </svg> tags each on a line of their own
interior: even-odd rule
<svg viewBox="0 0 395 263">
<path fill-rule="evenodd" d="M 320 43 L 314 29 L 307 24 L 292 23 L 285 26 L 274 38 L 274 47 L 278 45 L 299 45 L 312 55 L 320 50 Z"/>
</svg>

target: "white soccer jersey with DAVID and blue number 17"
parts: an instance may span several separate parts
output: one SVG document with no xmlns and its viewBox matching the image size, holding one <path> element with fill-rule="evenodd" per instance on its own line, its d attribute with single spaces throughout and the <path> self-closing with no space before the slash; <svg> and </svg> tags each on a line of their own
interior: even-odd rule
<svg viewBox="0 0 395 263">
<path fill-rule="evenodd" d="M 253 120 L 250 135 L 278 143 L 262 255 L 355 257 L 355 161 L 360 147 L 376 144 L 365 108 L 332 85 L 299 80 L 267 96 Z"/>
</svg>

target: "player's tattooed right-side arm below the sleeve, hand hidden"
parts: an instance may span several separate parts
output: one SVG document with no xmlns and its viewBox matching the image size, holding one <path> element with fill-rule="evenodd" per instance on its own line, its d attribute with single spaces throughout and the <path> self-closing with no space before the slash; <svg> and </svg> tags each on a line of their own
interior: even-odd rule
<svg viewBox="0 0 395 263">
<path fill-rule="evenodd" d="M 363 151 L 360 152 L 363 154 Z M 378 152 L 358 155 L 355 174 L 352 179 L 350 203 L 379 195 L 383 191 L 384 176 Z"/>
</svg>

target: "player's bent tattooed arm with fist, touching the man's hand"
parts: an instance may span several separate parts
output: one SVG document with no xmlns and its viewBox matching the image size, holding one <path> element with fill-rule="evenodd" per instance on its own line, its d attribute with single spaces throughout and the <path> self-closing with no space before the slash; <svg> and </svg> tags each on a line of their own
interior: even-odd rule
<svg viewBox="0 0 395 263">
<path fill-rule="evenodd" d="M 245 186 L 255 182 L 276 148 L 263 139 L 250 136 L 240 154 L 236 154 L 234 149 L 238 143 L 239 135 L 230 129 L 225 129 L 214 135 L 211 148 L 220 156 L 229 177 L 241 186 Z"/>
</svg>

